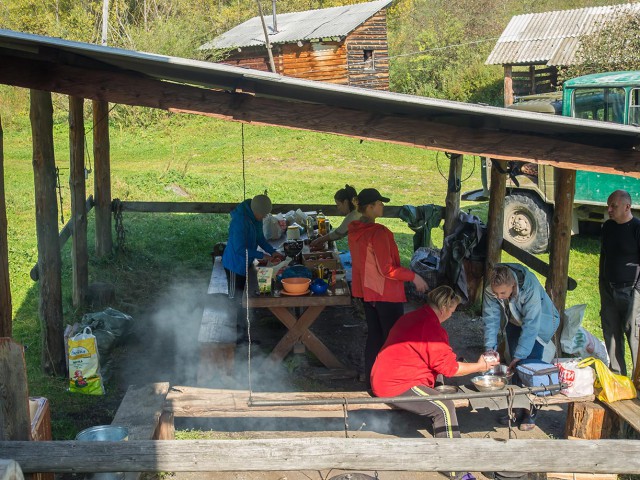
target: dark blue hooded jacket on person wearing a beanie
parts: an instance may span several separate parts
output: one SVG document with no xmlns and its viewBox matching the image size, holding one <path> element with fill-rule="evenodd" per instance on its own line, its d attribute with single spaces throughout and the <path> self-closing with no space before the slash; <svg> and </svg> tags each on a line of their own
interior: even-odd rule
<svg viewBox="0 0 640 480">
<path fill-rule="evenodd" d="M 251 199 L 248 199 L 231 211 L 229 240 L 222 254 L 222 265 L 244 277 L 247 269 L 245 252 L 249 257 L 249 265 L 255 259 L 264 257 L 264 253 L 258 251 L 258 246 L 269 254 L 275 252 L 264 238 L 262 220 L 256 219 L 251 210 Z"/>
</svg>

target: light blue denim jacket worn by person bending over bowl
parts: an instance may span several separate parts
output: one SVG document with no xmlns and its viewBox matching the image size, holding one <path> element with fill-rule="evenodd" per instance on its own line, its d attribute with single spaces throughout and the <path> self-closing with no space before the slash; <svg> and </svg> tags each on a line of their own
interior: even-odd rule
<svg viewBox="0 0 640 480">
<path fill-rule="evenodd" d="M 516 287 L 508 303 L 496 297 L 491 285 L 485 289 L 482 302 L 484 346 L 487 350 L 497 349 L 498 333 L 508 318 L 508 305 L 514 321 L 522 327 L 518 346 L 515 352 L 511 352 L 511 356 L 527 358 L 533 350 L 536 338 L 540 338 L 544 343 L 551 340 L 560 324 L 560 315 L 538 278 L 527 267 L 518 263 L 502 263 L 496 266 L 499 265 L 509 267 L 516 279 Z"/>
</svg>

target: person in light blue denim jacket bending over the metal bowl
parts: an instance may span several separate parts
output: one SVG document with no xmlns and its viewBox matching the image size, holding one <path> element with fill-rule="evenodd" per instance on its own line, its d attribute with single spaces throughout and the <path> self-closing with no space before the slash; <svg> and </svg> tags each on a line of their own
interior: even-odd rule
<svg viewBox="0 0 640 480">
<path fill-rule="evenodd" d="M 510 370 L 521 360 L 541 360 L 545 345 L 560 324 L 560 315 L 538 278 L 523 265 L 499 263 L 489 273 L 488 283 L 482 302 L 486 350 L 496 350 L 502 334 L 511 358 Z M 534 415 L 525 410 L 519 428 L 531 430 Z"/>
</svg>

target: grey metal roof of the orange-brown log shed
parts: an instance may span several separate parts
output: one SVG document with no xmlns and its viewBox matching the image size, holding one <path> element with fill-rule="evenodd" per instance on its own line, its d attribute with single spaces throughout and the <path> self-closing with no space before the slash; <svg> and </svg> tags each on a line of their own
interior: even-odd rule
<svg viewBox="0 0 640 480">
<path fill-rule="evenodd" d="M 269 42 L 294 43 L 330 37 L 345 37 L 356 27 L 387 8 L 393 0 L 357 3 L 344 7 L 306 10 L 276 15 L 278 31 L 273 30 L 273 16 L 266 15 Z M 200 50 L 264 45 L 264 30 L 260 17 L 254 17 L 200 47 Z"/>
</svg>

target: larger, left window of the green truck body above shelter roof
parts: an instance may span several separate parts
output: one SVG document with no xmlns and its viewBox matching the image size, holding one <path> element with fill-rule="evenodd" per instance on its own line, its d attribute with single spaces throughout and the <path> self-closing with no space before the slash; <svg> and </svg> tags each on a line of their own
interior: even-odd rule
<svg viewBox="0 0 640 480">
<path fill-rule="evenodd" d="M 623 88 L 579 88 L 573 92 L 573 116 L 624 123 Z"/>
</svg>

